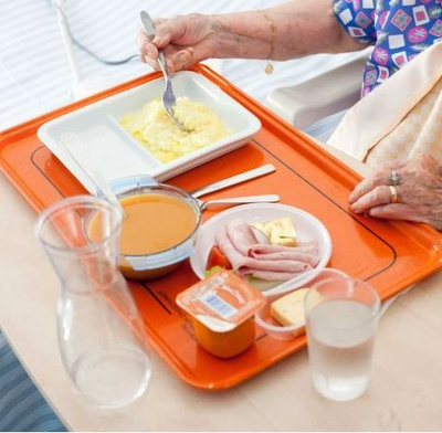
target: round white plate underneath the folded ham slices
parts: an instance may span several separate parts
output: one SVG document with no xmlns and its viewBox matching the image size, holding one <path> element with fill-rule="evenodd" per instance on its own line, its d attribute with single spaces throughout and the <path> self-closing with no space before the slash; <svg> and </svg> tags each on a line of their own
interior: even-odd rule
<svg viewBox="0 0 442 433">
<path fill-rule="evenodd" d="M 301 209 L 286 204 L 256 203 L 229 209 L 211 218 L 208 222 L 201 225 L 196 243 L 196 251 L 190 258 L 190 265 L 193 272 L 200 279 L 204 278 L 206 263 L 210 249 L 214 244 L 215 233 L 220 228 L 224 226 L 228 221 L 240 218 L 241 220 L 253 224 L 255 222 L 269 221 L 284 216 L 292 218 L 298 241 L 318 240 L 320 258 L 315 268 L 324 268 L 332 256 L 332 239 L 325 225 L 317 218 Z M 306 275 L 308 275 L 308 272 L 306 272 Z M 309 277 L 301 278 L 299 274 L 292 279 L 296 282 L 296 285 L 302 285 L 307 283 Z M 272 287 L 266 291 L 266 294 L 275 292 L 282 284 L 290 285 L 290 281 L 282 282 Z"/>
</svg>

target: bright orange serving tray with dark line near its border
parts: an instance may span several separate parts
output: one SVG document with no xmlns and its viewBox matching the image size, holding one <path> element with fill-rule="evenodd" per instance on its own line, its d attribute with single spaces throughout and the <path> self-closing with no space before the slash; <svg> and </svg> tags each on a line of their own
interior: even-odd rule
<svg viewBox="0 0 442 433">
<path fill-rule="evenodd" d="M 273 163 L 276 172 L 213 196 L 273 192 L 281 196 L 283 203 L 314 214 L 332 235 L 333 255 L 328 266 L 370 282 L 381 299 L 440 268 L 442 236 L 439 232 L 424 224 L 352 214 L 347 199 L 360 180 L 356 172 L 210 68 L 199 65 L 194 71 L 254 113 L 263 128 L 246 146 L 176 177 L 170 183 L 192 190 Z M 38 128 L 52 118 L 157 76 L 158 73 L 143 76 L 0 133 L 0 165 L 36 211 L 64 197 L 86 192 L 38 139 Z M 214 213 L 206 211 L 204 219 Z M 230 388 L 305 347 L 305 336 L 278 341 L 259 331 L 255 344 L 239 357 L 230 360 L 212 357 L 198 346 L 191 321 L 175 303 L 177 294 L 196 282 L 187 263 L 162 279 L 130 283 L 152 346 L 186 382 L 208 390 Z"/>
</svg>

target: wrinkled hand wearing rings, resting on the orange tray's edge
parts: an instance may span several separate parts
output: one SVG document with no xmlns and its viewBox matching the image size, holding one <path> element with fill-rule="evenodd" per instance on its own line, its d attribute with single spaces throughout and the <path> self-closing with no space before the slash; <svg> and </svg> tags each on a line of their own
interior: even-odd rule
<svg viewBox="0 0 442 433">
<path fill-rule="evenodd" d="M 396 170 L 397 203 L 392 203 L 389 176 Z M 425 222 L 442 230 L 442 166 L 428 155 L 385 165 L 356 186 L 349 197 L 356 213 Z"/>
</svg>

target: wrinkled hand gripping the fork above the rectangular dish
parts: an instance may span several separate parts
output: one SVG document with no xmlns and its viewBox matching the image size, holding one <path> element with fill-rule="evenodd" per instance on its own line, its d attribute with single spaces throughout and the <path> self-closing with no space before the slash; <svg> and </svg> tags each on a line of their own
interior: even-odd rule
<svg viewBox="0 0 442 433">
<path fill-rule="evenodd" d="M 219 41 L 217 24 L 210 15 L 189 14 L 155 20 L 156 36 L 151 43 L 140 30 L 137 43 L 141 61 L 158 68 L 158 49 L 162 49 L 169 72 L 187 70 L 212 57 Z"/>
</svg>

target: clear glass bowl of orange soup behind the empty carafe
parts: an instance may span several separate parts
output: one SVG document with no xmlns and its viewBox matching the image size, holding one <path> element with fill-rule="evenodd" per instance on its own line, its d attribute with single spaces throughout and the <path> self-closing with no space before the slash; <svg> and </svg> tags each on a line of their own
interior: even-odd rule
<svg viewBox="0 0 442 433">
<path fill-rule="evenodd" d="M 193 254 L 201 210 L 192 196 L 149 176 L 116 179 L 109 187 L 126 212 L 118 262 L 124 276 L 159 278 Z"/>
</svg>

